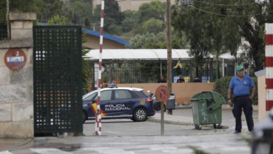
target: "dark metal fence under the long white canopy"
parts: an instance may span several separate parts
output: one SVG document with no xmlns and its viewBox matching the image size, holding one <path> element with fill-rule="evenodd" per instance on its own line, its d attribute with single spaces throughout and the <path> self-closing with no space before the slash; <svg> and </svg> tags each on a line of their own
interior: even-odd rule
<svg viewBox="0 0 273 154">
<path fill-rule="evenodd" d="M 217 64 L 215 59 L 208 59 L 202 64 L 195 64 L 194 60 L 173 60 L 172 79 L 176 82 L 181 74 L 186 82 L 193 82 L 199 78 L 202 82 L 215 82 Z M 166 79 L 167 61 L 131 61 L 129 62 L 105 62 L 103 64 L 102 82 L 107 84 L 111 80 L 117 83 L 154 83 L 159 80 L 162 74 Z M 95 68 L 93 78 L 98 75 Z M 254 76 L 253 69 L 246 70 L 246 74 Z M 235 76 L 235 61 L 219 59 L 218 77 Z M 91 79 L 92 81 L 92 79 Z"/>
</svg>

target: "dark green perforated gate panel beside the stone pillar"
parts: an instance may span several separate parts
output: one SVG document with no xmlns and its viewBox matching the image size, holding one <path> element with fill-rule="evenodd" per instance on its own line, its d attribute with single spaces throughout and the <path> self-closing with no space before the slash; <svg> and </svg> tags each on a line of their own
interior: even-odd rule
<svg viewBox="0 0 273 154">
<path fill-rule="evenodd" d="M 83 132 L 81 26 L 34 26 L 34 133 Z"/>
</svg>

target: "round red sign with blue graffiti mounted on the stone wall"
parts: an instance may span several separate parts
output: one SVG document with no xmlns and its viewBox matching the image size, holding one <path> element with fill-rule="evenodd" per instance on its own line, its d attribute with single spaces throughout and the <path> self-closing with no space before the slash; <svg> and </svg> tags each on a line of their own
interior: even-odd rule
<svg viewBox="0 0 273 154">
<path fill-rule="evenodd" d="M 22 49 L 9 49 L 4 57 L 4 61 L 8 68 L 12 70 L 19 70 L 25 66 L 27 57 Z"/>
</svg>

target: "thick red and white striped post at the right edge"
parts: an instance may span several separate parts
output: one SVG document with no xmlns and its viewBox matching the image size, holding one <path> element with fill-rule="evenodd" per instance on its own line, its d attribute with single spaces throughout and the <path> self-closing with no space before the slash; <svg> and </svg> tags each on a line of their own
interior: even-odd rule
<svg viewBox="0 0 273 154">
<path fill-rule="evenodd" d="M 273 24 L 266 23 L 266 113 L 273 107 Z"/>
</svg>

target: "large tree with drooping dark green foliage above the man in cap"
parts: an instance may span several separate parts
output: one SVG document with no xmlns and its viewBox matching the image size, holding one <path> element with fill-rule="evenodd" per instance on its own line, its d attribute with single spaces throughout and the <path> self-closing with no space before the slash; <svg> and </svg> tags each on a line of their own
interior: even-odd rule
<svg viewBox="0 0 273 154">
<path fill-rule="evenodd" d="M 226 5 L 253 3 L 255 1 L 213 0 L 210 2 Z M 220 53 L 229 51 L 236 56 L 236 51 L 241 45 L 254 60 L 255 70 L 263 68 L 264 23 L 272 22 L 272 14 L 232 15 L 251 15 L 270 11 L 273 7 L 271 1 L 241 6 L 215 6 L 194 1 L 192 5 L 193 7 L 182 3 L 173 6 L 172 25 L 177 33 L 185 32 L 190 43 L 190 54 L 195 56 L 198 62 L 203 59 L 203 56 L 216 50 Z M 205 13 L 196 8 L 214 14 Z M 220 14 L 220 16 L 215 14 Z M 244 43 L 243 40 L 247 43 Z M 240 62 L 238 61 L 238 63 Z"/>
</svg>

